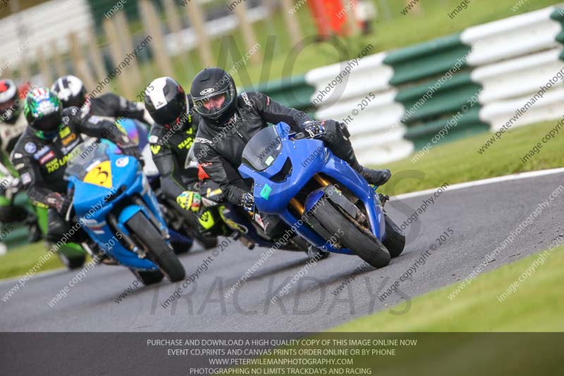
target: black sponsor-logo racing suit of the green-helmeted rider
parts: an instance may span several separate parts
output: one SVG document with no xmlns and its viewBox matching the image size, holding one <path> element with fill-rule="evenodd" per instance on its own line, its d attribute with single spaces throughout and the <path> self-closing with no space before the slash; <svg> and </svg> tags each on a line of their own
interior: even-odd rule
<svg viewBox="0 0 564 376">
<path fill-rule="evenodd" d="M 82 113 L 78 107 L 63 109 L 63 123 L 56 137 L 48 140 L 27 127 L 11 154 L 13 166 L 20 174 L 23 188 L 30 200 L 47 207 L 47 195 L 57 192 L 66 195 L 67 182 L 63 180 L 68 154 L 82 142 L 81 134 L 107 138 L 121 145 L 130 140 L 117 126 Z M 58 241 L 68 229 L 68 223 L 54 208 L 48 213 L 47 240 Z"/>
</svg>

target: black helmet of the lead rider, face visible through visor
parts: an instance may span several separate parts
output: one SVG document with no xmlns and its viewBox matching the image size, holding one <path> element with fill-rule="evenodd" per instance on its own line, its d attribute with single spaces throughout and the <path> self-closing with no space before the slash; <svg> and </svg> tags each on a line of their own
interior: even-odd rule
<svg viewBox="0 0 564 376">
<path fill-rule="evenodd" d="M 194 109 L 217 126 L 233 116 L 237 108 L 237 88 L 229 73 L 221 68 L 205 68 L 192 81 L 190 95 Z"/>
</svg>

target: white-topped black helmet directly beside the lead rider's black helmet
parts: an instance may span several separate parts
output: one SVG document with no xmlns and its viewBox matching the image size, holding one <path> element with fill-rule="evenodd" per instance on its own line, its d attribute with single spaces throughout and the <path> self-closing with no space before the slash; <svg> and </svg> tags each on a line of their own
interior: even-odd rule
<svg viewBox="0 0 564 376">
<path fill-rule="evenodd" d="M 145 109 L 155 123 L 167 128 L 192 122 L 184 89 L 170 77 L 159 77 L 145 89 Z"/>
</svg>

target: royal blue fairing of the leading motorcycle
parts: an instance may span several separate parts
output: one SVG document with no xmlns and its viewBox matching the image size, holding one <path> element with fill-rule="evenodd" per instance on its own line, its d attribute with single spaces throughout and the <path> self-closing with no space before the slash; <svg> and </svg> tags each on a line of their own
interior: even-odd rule
<svg viewBox="0 0 564 376">
<path fill-rule="evenodd" d="M 346 248 L 333 248 L 324 238 L 312 231 L 309 226 L 298 222 L 300 218 L 295 217 L 288 211 L 288 204 L 292 198 L 310 181 L 315 174 L 325 174 L 338 181 L 340 186 L 348 188 L 366 207 L 371 229 L 379 240 L 384 237 L 384 212 L 379 199 L 367 181 L 362 178 L 348 163 L 338 159 L 320 140 L 302 139 L 289 140 L 290 127 L 286 123 L 278 123 L 276 126 L 281 139 L 281 151 L 264 171 L 255 171 L 246 164 L 239 166 L 239 172 L 243 178 L 252 178 L 254 181 L 253 194 L 255 204 L 260 212 L 278 214 L 288 226 L 293 226 L 302 238 L 317 247 L 325 246 L 327 250 L 336 253 L 352 252 Z M 280 181 L 280 176 L 273 181 L 282 169 L 286 160 L 290 159 L 292 164 L 291 173 Z M 306 200 L 306 210 L 311 209 L 317 201 L 323 197 L 321 191 L 310 193 Z"/>
</svg>

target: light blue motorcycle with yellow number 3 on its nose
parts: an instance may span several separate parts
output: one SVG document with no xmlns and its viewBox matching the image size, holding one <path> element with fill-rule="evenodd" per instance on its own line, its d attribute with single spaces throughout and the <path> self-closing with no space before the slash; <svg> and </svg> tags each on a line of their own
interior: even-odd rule
<svg viewBox="0 0 564 376">
<path fill-rule="evenodd" d="M 144 284 L 185 277 L 173 252 L 168 229 L 147 177 L 134 157 L 111 152 L 91 140 L 75 147 L 65 171 L 73 197 L 70 219 L 104 250 L 104 256 L 125 267 Z"/>
</svg>

